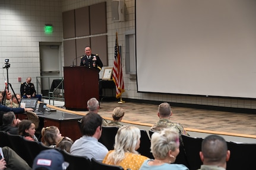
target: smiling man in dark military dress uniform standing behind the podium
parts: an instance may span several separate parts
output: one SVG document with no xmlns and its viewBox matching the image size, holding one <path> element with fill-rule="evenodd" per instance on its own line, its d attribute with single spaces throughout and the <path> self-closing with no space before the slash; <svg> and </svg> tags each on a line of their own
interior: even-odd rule
<svg viewBox="0 0 256 170">
<path fill-rule="evenodd" d="M 86 46 L 84 52 L 86 55 L 81 57 L 80 66 L 86 66 L 87 68 L 96 69 L 100 72 L 100 70 L 102 70 L 103 63 L 98 54 L 91 54 L 90 46 Z"/>
</svg>

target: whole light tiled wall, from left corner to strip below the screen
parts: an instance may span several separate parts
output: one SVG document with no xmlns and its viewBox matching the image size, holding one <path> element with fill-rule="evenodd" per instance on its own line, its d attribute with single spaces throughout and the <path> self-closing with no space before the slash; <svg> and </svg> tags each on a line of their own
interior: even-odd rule
<svg viewBox="0 0 256 170">
<path fill-rule="evenodd" d="M 26 78 L 40 75 L 39 41 L 62 41 L 62 12 L 99 2 L 104 2 L 104 0 L 0 1 L 0 63 L 4 63 L 5 58 L 10 58 L 9 76 L 10 81 L 15 82 L 12 84 L 14 89 L 19 90 L 20 87 L 20 84 L 16 83 L 18 76 Z M 109 66 L 113 66 L 116 31 L 118 31 L 119 46 L 122 46 L 125 82 L 125 92 L 122 98 L 256 109 L 255 100 L 138 93 L 136 76 L 125 74 L 125 32 L 135 30 L 135 0 L 125 0 L 125 22 L 121 23 L 112 22 L 111 0 L 106 2 Z M 49 22 L 54 23 L 53 36 L 47 36 L 43 32 L 43 25 Z M 63 65 L 63 50 L 61 62 Z M 6 70 L 0 70 L 0 73 L 3 72 L 6 75 Z M 1 89 L 4 88 L 4 84 L 1 83 L 4 82 L 4 75 L 0 75 Z"/>
</svg>

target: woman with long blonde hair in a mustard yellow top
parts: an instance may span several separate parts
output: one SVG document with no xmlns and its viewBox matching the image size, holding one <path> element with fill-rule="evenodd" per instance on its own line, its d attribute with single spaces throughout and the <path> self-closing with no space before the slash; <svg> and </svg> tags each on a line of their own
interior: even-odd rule
<svg viewBox="0 0 256 170">
<path fill-rule="evenodd" d="M 124 169 L 140 169 L 148 159 L 136 151 L 140 147 L 140 134 L 138 127 L 120 127 L 116 133 L 114 150 L 109 151 L 103 163 L 122 166 Z"/>
</svg>

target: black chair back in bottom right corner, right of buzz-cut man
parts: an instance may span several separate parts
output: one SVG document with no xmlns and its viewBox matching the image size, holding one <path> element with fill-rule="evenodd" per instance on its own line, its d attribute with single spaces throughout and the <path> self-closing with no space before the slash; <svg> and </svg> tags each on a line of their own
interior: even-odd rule
<svg viewBox="0 0 256 170">
<path fill-rule="evenodd" d="M 256 169 L 255 154 L 256 143 L 227 142 L 230 158 L 227 161 L 227 170 L 231 169 Z"/>
</svg>

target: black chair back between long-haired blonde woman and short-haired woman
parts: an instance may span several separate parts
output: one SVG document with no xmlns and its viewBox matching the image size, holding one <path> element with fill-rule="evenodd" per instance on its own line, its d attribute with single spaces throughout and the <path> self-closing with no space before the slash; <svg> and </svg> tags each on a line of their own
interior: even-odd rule
<svg viewBox="0 0 256 170">
<path fill-rule="evenodd" d="M 151 142 L 148 137 L 147 131 L 144 129 L 140 130 L 141 136 L 140 136 L 140 147 L 137 150 L 141 155 L 147 156 L 147 158 L 154 159 L 154 156 L 150 152 L 150 146 Z"/>
</svg>

